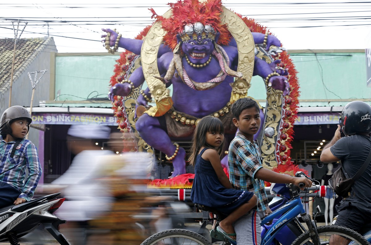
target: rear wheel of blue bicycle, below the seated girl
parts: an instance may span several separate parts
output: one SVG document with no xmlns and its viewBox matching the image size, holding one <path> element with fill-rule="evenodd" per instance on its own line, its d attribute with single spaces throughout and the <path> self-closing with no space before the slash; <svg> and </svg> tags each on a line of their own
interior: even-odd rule
<svg viewBox="0 0 371 245">
<path fill-rule="evenodd" d="M 206 238 L 185 229 L 160 231 L 145 239 L 141 245 L 211 245 Z"/>
</svg>

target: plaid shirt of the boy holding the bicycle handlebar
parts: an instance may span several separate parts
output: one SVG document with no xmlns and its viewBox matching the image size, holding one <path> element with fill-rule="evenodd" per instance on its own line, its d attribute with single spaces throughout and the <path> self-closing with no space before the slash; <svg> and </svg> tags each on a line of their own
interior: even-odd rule
<svg viewBox="0 0 371 245">
<path fill-rule="evenodd" d="M 256 211 L 264 211 L 268 207 L 264 181 L 254 178 L 262 168 L 259 147 L 250 142 L 242 134 L 237 133 L 229 145 L 228 151 L 229 180 L 236 189 L 254 192 L 257 196 Z"/>
</svg>

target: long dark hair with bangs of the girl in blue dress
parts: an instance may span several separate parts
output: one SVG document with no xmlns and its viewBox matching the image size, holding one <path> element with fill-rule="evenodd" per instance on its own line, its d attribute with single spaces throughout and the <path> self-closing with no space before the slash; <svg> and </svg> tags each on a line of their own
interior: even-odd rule
<svg viewBox="0 0 371 245">
<path fill-rule="evenodd" d="M 198 151 L 200 151 L 201 147 L 212 147 L 211 145 L 207 144 L 206 142 L 206 133 L 207 132 L 219 132 L 224 134 L 224 127 L 223 123 L 220 121 L 219 118 L 206 116 L 203 117 L 197 124 L 196 130 L 193 133 L 192 138 L 192 146 L 190 150 L 190 155 L 188 157 L 188 161 L 193 166 L 196 164 L 196 158 L 198 155 Z M 216 148 L 215 150 L 218 152 L 219 156 L 224 149 L 225 141 L 221 143 L 220 147 Z"/>
</svg>

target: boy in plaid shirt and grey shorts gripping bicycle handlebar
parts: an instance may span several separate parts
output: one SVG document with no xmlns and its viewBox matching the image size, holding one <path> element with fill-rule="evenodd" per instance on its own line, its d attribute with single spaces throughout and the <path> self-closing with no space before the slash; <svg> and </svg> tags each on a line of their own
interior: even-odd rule
<svg viewBox="0 0 371 245">
<path fill-rule="evenodd" d="M 259 146 L 254 135 L 260 128 L 259 105 L 251 98 L 241 98 L 233 103 L 231 111 L 233 124 L 238 128 L 228 151 L 229 180 L 236 189 L 254 192 L 257 205 L 250 214 L 246 214 L 234 223 L 238 245 L 260 245 L 260 222 L 270 214 L 264 181 L 274 183 L 304 183 L 311 187 L 312 181 L 279 174 L 263 168 Z"/>
</svg>

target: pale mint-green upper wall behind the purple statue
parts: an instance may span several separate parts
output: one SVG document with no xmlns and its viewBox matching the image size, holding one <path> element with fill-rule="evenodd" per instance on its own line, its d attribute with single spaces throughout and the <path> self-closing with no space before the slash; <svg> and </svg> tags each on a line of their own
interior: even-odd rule
<svg viewBox="0 0 371 245">
<path fill-rule="evenodd" d="M 371 88 L 366 87 L 365 53 L 330 51 L 314 53 L 311 50 L 295 50 L 290 53 L 298 71 L 300 106 L 341 106 L 352 100 L 368 100 L 371 97 Z M 57 100 L 66 100 L 67 103 L 87 98 L 107 98 L 109 80 L 118 58 L 118 55 L 89 54 L 57 56 L 55 96 L 60 90 Z M 253 77 L 251 84 L 248 96 L 265 100 L 262 78 Z M 144 84 L 142 89 L 146 87 Z M 260 103 L 265 106 L 264 102 Z M 111 107 L 111 104 L 105 102 L 99 106 Z"/>
</svg>

